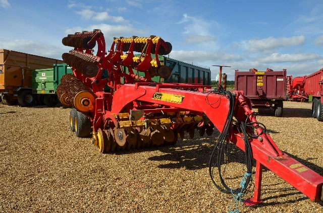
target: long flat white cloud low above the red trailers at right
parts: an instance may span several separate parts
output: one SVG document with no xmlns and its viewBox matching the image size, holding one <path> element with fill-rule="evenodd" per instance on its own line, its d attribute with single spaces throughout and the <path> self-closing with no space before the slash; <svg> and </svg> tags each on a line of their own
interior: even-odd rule
<svg viewBox="0 0 323 213">
<path fill-rule="evenodd" d="M 260 57 L 259 57 L 260 58 Z M 312 53 L 304 54 L 281 54 L 273 53 L 270 56 L 261 57 L 259 61 L 264 63 L 273 63 L 273 62 L 301 62 L 307 60 L 316 60 L 320 59 L 322 56 Z"/>
</svg>

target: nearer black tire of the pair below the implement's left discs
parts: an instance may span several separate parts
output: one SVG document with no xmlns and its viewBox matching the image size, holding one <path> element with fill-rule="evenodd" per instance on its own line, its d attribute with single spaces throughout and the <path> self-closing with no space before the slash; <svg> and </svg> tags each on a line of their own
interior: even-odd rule
<svg viewBox="0 0 323 213">
<path fill-rule="evenodd" d="M 74 129 L 77 137 L 87 137 L 92 133 L 91 120 L 82 112 L 77 111 L 74 119 Z"/>
</svg>

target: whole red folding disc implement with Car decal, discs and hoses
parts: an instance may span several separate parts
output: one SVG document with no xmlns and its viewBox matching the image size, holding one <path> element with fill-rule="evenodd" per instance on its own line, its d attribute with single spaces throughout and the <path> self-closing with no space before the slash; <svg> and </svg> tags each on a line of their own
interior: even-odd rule
<svg viewBox="0 0 323 213">
<path fill-rule="evenodd" d="M 68 40 L 68 42 L 64 41 Z M 248 205 L 261 202 L 262 167 L 270 169 L 312 201 L 322 197 L 323 177 L 282 152 L 257 122 L 251 102 L 241 91 L 211 90 L 202 84 L 154 83 L 154 75 L 167 78 L 168 67 L 160 65 L 159 55 L 171 52 L 172 45 L 160 37 L 115 38 L 105 53 L 101 31 L 82 32 L 63 39 L 74 47 L 63 59 L 73 66 L 74 75 L 62 78 L 60 94 L 67 94 L 73 107 L 71 129 L 78 136 L 92 132 L 92 143 L 102 153 L 175 144 L 178 136 L 194 130 L 211 135 L 221 132 L 210 158 L 210 176 L 221 191 L 239 194 L 251 181 L 252 161 L 256 160 L 254 197 Z M 98 51 L 89 48 L 97 43 Z M 133 52 L 140 52 L 135 57 Z M 155 57 L 151 57 L 151 53 Z M 122 70 L 127 66 L 129 73 Z M 108 75 L 103 76 L 103 70 Z M 144 72 L 139 77 L 138 72 Z M 121 83 L 121 78 L 124 83 Z M 245 184 L 229 188 L 221 166 L 227 164 L 229 146 L 245 151 Z M 215 168 L 215 169 L 214 169 Z M 214 181 L 216 174 L 221 182 Z"/>
</svg>

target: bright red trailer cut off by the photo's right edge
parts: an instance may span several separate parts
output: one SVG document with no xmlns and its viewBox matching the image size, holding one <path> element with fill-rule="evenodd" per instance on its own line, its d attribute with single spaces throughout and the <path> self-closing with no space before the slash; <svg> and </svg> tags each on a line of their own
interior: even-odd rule
<svg viewBox="0 0 323 213">
<path fill-rule="evenodd" d="M 323 68 L 305 76 L 304 94 L 313 96 L 312 116 L 323 121 Z"/>
</svg>

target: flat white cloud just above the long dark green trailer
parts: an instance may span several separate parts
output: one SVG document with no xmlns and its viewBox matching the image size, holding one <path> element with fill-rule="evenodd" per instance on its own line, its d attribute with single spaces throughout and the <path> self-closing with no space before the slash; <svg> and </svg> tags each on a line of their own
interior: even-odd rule
<svg viewBox="0 0 323 213">
<path fill-rule="evenodd" d="M 207 51 L 184 51 L 173 50 L 170 53 L 171 58 L 181 60 L 187 63 L 205 62 L 205 61 L 240 61 L 243 60 L 240 55 L 232 55 L 223 52 L 207 52 Z"/>
</svg>

